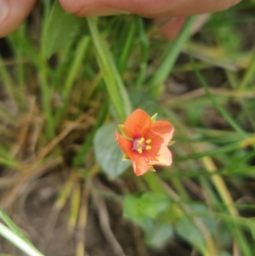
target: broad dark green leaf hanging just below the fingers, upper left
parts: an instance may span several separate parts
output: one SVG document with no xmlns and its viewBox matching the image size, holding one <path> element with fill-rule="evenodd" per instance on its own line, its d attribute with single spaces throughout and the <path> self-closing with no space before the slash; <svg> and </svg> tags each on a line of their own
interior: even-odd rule
<svg viewBox="0 0 255 256">
<path fill-rule="evenodd" d="M 44 35 L 44 48 L 49 58 L 59 48 L 64 47 L 71 39 L 81 33 L 85 20 L 74 14 L 67 14 L 59 2 L 54 3 L 54 8 L 48 18 L 48 24 Z"/>
</svg>

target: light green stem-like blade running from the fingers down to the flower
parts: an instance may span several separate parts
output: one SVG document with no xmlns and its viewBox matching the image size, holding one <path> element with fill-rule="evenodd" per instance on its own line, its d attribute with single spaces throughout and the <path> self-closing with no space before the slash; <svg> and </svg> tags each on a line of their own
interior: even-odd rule
<svg viewBox="0 0 255 256">
<path fill-rule="evenodd" d="M 87 18 L 87 21 L 106 88 L 110 94 L 111 101 L 116 108 L 118 121 L 123 122 L 131 112 L 131 104 L 127 95 L 127 90 L 123 85 L 122 78 L 118 74 L 111 52 L 107 48 L 105 38 L 101 37 L 99 34 L 96 18 L 89 17 Z"/>
</svg>

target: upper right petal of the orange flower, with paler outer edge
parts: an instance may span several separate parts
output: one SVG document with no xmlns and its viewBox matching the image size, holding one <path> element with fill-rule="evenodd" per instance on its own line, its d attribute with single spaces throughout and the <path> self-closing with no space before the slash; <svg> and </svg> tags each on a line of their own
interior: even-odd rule
<svg viewBox="0 0 255 256">
<path fill-rule="evenodd" d="M 156 134 L 160 134 L 164 139 L 162 146 L 168 145 L 169 141 L 173 138 L 174 128 L 170 122 L 156 121 L 152 122 L 151 130 Z M 150 136 L 150 134 L 148 134 Z"/>
</svg>

